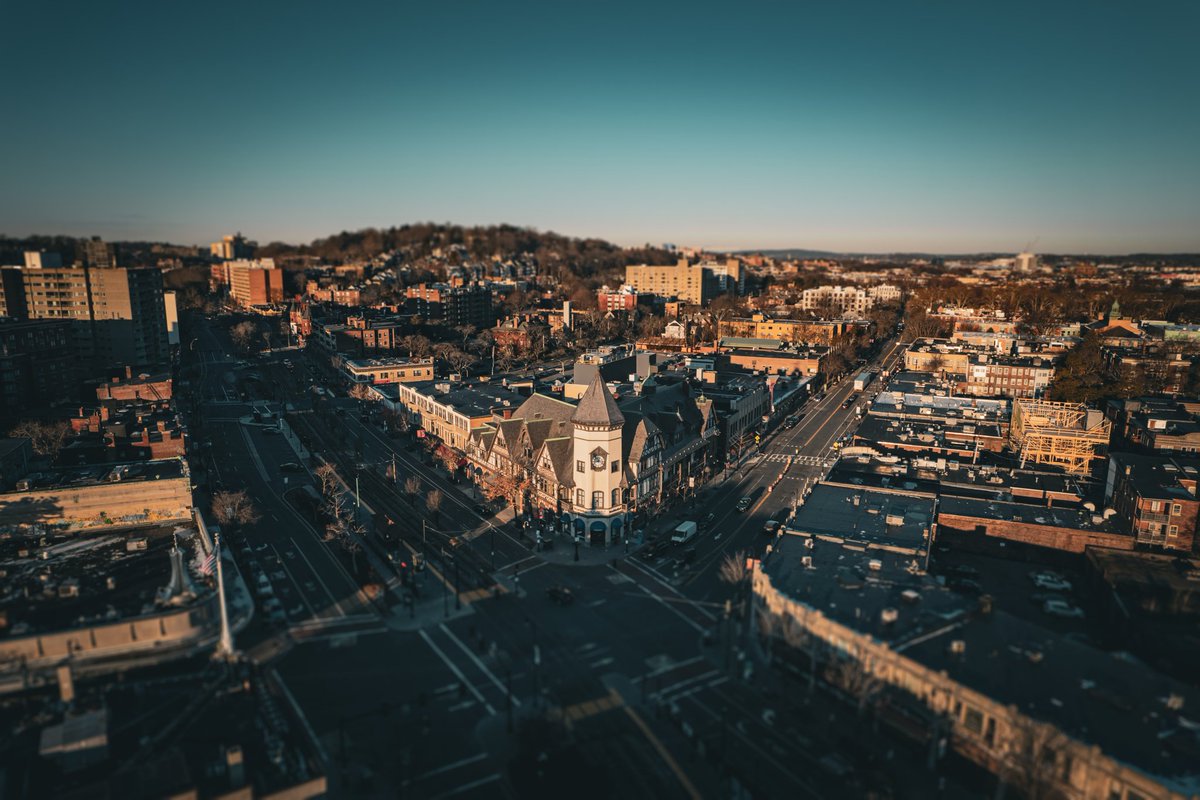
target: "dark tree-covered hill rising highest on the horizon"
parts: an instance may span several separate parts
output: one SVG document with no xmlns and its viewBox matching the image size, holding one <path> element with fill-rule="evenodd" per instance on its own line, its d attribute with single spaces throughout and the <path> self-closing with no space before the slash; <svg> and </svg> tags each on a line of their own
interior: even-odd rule
<svg viewBox="0 0 1200 800">
<path fill-rule="evenodd" d="M 455 246 L 462 248 L 461 259 L 464 260 L 529 253 L 542 271 L 580 278 L 605 275 L 628 264 L 671 264 L 676 259 L 673 254 L 654 247 L 626 249 L 601 239 L 574 239 L 533 228 L 436 223 L 342 231 L 300 246 L 271 242 L 259 247 L 258 254 L 271 258 L 316 255 L 326 261 L 343 261 L 398 251 L 406 260 L 416 260 L 440 249 L 454 263 L 460 258 Z"/>
</svg>

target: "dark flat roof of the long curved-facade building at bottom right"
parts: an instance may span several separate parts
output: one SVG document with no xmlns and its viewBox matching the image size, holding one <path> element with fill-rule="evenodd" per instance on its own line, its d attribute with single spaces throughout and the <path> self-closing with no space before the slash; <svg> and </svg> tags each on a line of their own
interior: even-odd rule
<svg viewBox="0 0 1200 800">
<path fill-rule="evenodd" d="M 763 571 L 785 595 L 907 658 L 1096 744 L 1186 795 L 1200 786 L 1200 738 L 1190 721 L 1200 690 L 1193 686 L 1002 608 L 985 613 L 905 554 L 822 541 L 809 547 L 784 536 Z M 952 649 L 954 642 L 961 644 Z"/>
</svg>

